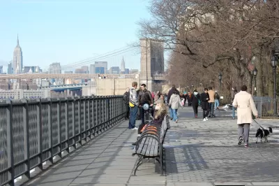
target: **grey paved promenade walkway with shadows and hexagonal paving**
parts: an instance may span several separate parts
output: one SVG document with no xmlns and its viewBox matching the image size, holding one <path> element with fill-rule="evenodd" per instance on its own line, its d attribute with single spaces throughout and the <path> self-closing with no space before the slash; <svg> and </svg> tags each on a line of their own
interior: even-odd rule
<svg viewBox="0 0 279 186">
<path fill-rule="evenodd" d="M 152 160 L 133 176 L 137 157 L 131 156 L 131 143 L 137 131 L 123 121 L 25 185 L 279 185 L 279 122 L 258 120 L 274 131 L 269 143 L 258 144 L 252 124 L 250 146 L 244 148 L 236 145 L 236 120 L 224 117 L 229 114 L 217 112 L 202 122 L 191 108 L 179 110 L 179 122 L 170 122 L 165 141 L 165 176 Z"/>
</svg>

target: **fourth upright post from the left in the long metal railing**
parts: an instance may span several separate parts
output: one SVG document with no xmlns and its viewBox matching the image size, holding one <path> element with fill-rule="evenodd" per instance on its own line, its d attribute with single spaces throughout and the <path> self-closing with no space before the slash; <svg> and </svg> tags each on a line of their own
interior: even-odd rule
<svg viewBox="0 0 279 186">
<path fill-rule="evenodd" d="M 52 145 L 52 99 L 47 98 L 47 112 L 48 112 L 48 138 L 50 139 L 48 141 L 49 146 L 49 161 L 51 164 L 53 164 L 53 145 Z"/>
</svg>

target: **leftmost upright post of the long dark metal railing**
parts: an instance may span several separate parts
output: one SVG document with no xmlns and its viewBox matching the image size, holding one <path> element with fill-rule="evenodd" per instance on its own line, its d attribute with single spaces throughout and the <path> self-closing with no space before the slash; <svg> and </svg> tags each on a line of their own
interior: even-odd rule
<svg viewBox="0 0 279 186">
<path fill-rule="evenodd" d="M 8 179 L 10 180 L 10 185 L 15 185 L 15 167 L 14 167 L 14 156 L 13 156 L 13 102 L 10 99 L 6 100 L 8 103 L 7 107 L 7 154 L 8 154 L 8 167 L 10 168 Z"/>
</svg>

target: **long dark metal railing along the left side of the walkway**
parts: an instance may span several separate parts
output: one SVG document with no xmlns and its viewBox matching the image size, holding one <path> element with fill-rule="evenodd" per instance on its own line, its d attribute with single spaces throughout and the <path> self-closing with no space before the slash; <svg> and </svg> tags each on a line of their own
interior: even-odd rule
<svg viewBox="0 0 279 186">
<path fill-rule="evenodd" d="M 30 178 L 125 116 L 123 96 L 0 102 L 0 185 Z"/>
</svg>

